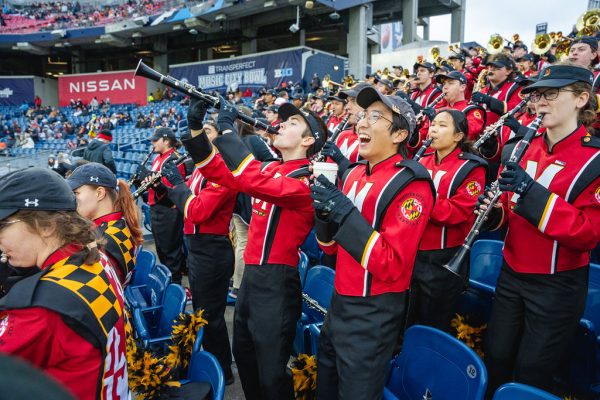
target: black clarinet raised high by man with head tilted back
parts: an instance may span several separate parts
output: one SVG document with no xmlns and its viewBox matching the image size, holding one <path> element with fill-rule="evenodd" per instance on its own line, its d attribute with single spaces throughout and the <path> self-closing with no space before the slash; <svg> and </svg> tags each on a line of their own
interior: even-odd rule
<svg viewBox="0 0 600 400">
<path fill-rule="evenodd" d="M 169 86 L 170 88 L 175 89 L 181 93 L 185 93 L 190 97 L 194 97 L 198 100 L 204 101 L 204 102 L 212 105 L 213 107 L 219 106 L 220 100 L 217 96 L 211 96 L 207 93 L 204 93 L 201 90 L 197 89 L 195 86 L 190 85 L 189 83 L 180 81 L 178 79 L 175 79 L 172 76 L 163 75 L 160 72 L 158 72 L 158 71 L 150 68 L 146 64 L 144 64 L 144 62 L 142 60 L 140 60 L 140 62 L 138 63 L 138 66 L 135 69 L 135 72 L 133 73 L 133 75 L 134 76 L 135 75 L 143 76 L 143 77 L 153 80 L 155 82 L 162 83 L 163 85 Z M 273 128 L 271 125 L 269 125 L 267 123 L 259 121 L 258 119 L 252 118 L 243 113 L 239 113 L 237 115 L 237 118 L 242 120 L 243 122 L 247 123 L 250 126 L 258 127 L 259 129 L 261 129 L 263 131 L 267 131 L 267 133 L 270 133 L 272 135 L 277 135 L 277 130 L 275 128 Z"/>
</svg>

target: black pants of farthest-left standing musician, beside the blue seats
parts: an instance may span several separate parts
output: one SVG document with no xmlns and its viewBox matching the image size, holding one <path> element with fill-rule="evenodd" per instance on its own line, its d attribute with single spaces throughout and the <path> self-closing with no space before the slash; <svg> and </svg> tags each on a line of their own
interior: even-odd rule
<svg viewBox="0 0 600 400">
<path fill-rule="evenodd" d="M 181 283 L 183 269 L 183 214 L 177 208 L 155 204 L 150 207 L 152 235 L 161 264 L 171 271 L 171 281 Z"/>
</svg>

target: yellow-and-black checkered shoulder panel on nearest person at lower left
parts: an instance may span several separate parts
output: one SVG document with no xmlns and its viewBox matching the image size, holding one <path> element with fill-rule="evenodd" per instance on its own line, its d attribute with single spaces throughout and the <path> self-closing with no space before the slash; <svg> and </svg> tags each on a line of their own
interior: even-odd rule
<svg viewBox="0 0 600 400">
<path fill-rule="evenodd" d="M 76 294 L 92 311 L 106 338 L 123 315 L 123 306 L 100 262 L 76 265 L 73 261 L 65 258 L 57 262 L 40 281 L 57 284 Z"/>
</svg>

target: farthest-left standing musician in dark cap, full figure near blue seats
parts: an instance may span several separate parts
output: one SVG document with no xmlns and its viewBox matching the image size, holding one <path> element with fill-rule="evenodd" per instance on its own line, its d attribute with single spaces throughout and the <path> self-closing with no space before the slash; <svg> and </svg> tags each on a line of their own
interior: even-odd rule
<svg viewBox="0 0 600 400">
<path fill-rule="evenodd" d="M 158 128 L 154 131 L 150 142 L 158 156 L 152 162 L 151 173 L 159 172 L 165 161 L 177 157 L 178 145 L 175 133 L 171 128 Z M 181 176 L 185 176 L 185 167 L 179 166 Z M 143 170 L 140 175 L 148 175 Z M 144 180 L 151 179 L 147 176 Z M 169 199 L 167 188 L 172 185 L 162 177 L 160 183 L 148 190 L 148 205 L 152 221 L 152 236 L 156 245 L 158 259 L 171 271 L 171 281 L 181 283 L 181 273 L 185 256 L 183 254 L 183 215 Z"/>
</svg>

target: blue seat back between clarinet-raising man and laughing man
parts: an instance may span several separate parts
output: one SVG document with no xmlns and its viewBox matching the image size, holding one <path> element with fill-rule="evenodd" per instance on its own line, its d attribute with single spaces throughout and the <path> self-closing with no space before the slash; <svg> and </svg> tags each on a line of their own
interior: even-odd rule
<svg viewBox="0 0 600 400">
<path fill-rule="evenodd" d="M 329 308 L 329 302 L 333 295 L 333 281 L 335 271 L 323 265 L 315 265 L 308 270 L 303 292 L 316 300 L 324 308 Z M 308 323 L 322 322 L 323 315 L 317 310 L 310 308 L 306 302 L 302 304 L 302 312 L 308 317 Z"/>
</svg>

